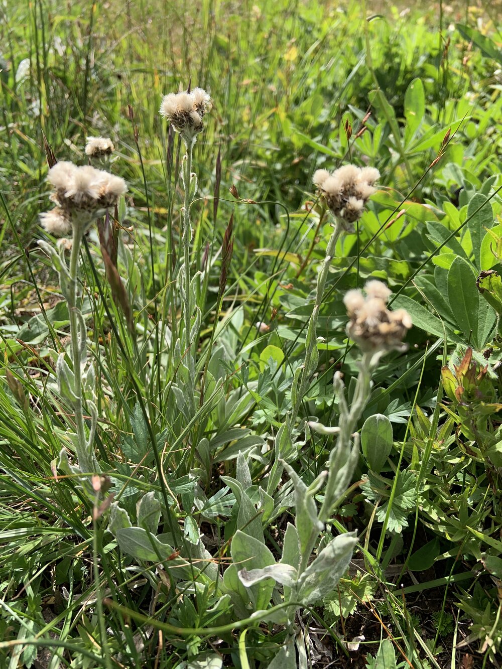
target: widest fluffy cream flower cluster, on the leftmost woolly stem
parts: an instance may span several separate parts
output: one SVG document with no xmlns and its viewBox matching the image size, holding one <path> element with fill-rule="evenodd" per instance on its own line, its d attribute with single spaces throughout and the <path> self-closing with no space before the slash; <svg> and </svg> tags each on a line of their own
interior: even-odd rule
<svg viewBox="0 0 502 669">
<path fill-rule="evenodd" d="M 68 161 L 56 163 L 47 180 L 54 186 L 51 199 L 56 207 L 40 215 L 41 225 L 50 233 L 66 234 L 72 225 L 89 225 L 92 219 L 118 203 L 127 186 L 124 179 L 104 170 Z"/>
</svg>

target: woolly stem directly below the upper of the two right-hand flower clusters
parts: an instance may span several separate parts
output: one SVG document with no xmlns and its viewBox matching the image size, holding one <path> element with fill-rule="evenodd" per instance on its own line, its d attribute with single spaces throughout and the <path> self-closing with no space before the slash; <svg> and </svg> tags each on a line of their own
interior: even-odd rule
<svg viewBox="0 0 502 669">
<path fill-rule="evenodd" d="M 293 401 L 291 425 L 295 425 L 295 421 L 298 417 L 301 403 L 303 401 L 303 396 L 305 395 L 307 386 L 309 385 L 309 379 L 317 367 L 317 360 L 319 359 L 319 353 L 317 352 L 317 319 L 319 318 L 319 309 L 321 308 L 321 302 L 323 301 L 323 293 L 328 277 L 329 266 L 331 264 L 331 260 L 333 260 L 333 256 L 335 255 L 335 249 L 337 248 L 337 242 L 341 231 L 341 223 L 339 219 L 335 218 L 335 226 L 333 227 L 331 237 L 329 237 L 328 245 L 326 247 L 326 255 L 323 260 L 323 264 L 321 265 L 321 270 L 319 270 L 319 274 L 317 275 L 315 304 L 311 318 L 309 320 L 309 327 L 307 328 L 305 360 L 303 361 L 303 368 L 301 370 L 299 380 L 295 379 L 293 381 L 291 393 Z"/>
</svg>

